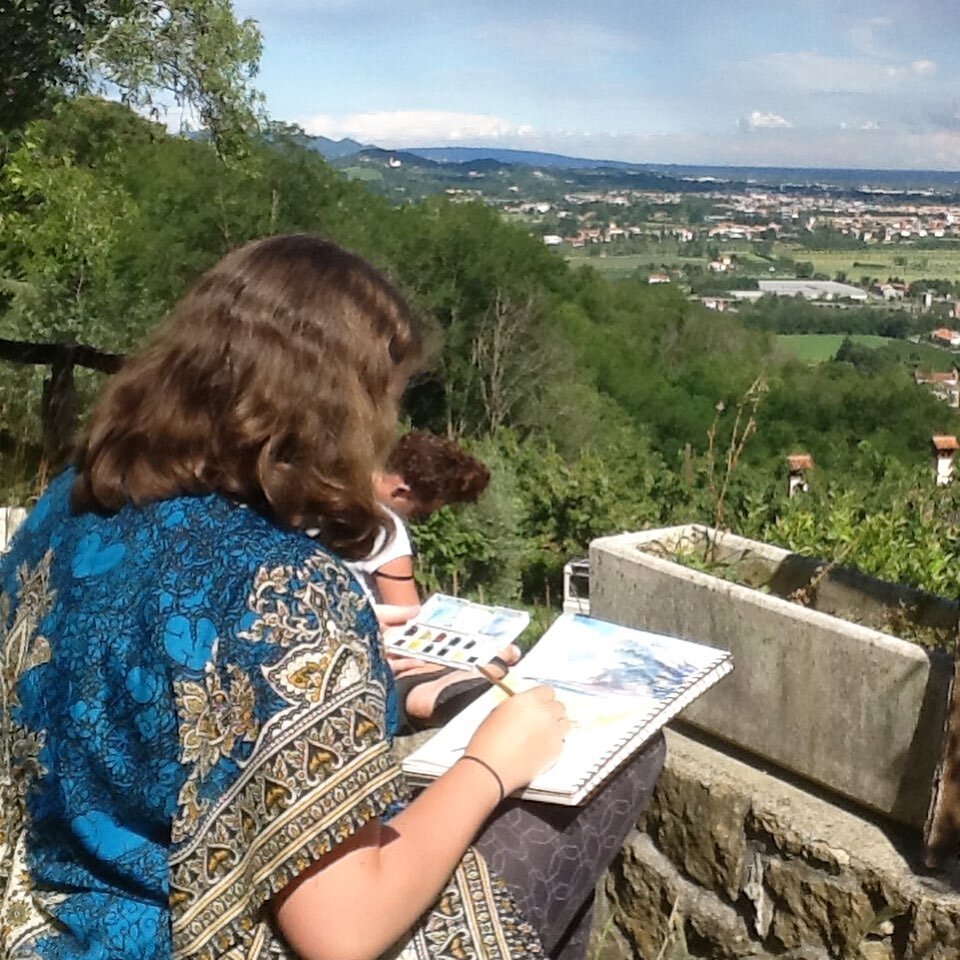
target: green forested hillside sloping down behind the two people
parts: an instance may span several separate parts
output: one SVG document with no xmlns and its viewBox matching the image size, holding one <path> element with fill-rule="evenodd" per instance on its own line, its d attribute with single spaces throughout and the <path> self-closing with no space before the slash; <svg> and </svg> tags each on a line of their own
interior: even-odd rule
<svg viewBox="0 0 960 960">
<path fill-rule="evenodd" d="M 479 509 L 421 529 L 422 572 L 449 587 L 456 570 L 488 596 L 542 596 L 567 556 L 618 529 L 720 517 L 799 543 L 804 510 L 825 511 L 825 530 L 897 497 L 920 509 L 930 435 L 957 432 L 905 367 L 790 361 L 671 286 L 569 269 L 479 203 L 392 207 L 280 128 L 225 161 L 119 104 L 61 101 L 10 144 L 0 224 L 0 338 L 113 352 L 252 237 L 317 231 L 384 267 L 435 344 L 411 423 L 464 438 L 497 477 Z M 22 498 L 45 371 L 0 373 L 4 482 Z M 798 449 L 818 464 L 820 507 L 783 498 Z"/>
</svg>

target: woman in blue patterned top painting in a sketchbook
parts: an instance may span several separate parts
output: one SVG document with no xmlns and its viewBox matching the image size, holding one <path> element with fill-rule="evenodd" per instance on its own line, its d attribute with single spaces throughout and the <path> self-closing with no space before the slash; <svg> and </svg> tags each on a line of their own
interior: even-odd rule
<svg viewBox="0 0 960 960">
<path fill-rule="evenodd" d="M 0 561 L 0 955 L 581 960 L 662 744 L 531 832 L 506 797 L 569 729 L 535 687 L 408 800 L 373 609 L 327 552 L 382 535 L 373 476 L 419 356 L 372 264 L 278 236 L 105 385 Z"/>
</svg>

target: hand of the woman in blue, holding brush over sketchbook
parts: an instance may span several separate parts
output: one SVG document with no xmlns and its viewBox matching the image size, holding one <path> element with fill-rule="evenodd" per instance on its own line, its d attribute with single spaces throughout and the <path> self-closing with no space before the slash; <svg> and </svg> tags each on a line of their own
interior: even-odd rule
<svg viewBox="0 0 960 960">
<path fill-rule="evenodd" d="M 466 752 L 489 763 L 510 794 L 557 759 L 569 729 L 567 709 L 553 689 L 533 687 L 504 700 L 471 737 Z"/>
</svg>

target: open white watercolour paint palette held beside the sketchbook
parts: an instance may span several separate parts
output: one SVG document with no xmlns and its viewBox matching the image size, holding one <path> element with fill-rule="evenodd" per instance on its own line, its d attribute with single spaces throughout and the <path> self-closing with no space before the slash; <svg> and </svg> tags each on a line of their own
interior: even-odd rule
<svg viewBox="0 0 960 960">
<path fill-rule="evenodd" d="M 530 614 L 437 593 L 409 623 L 384 633 L 388 650 L 469 670 L 489 663 L 530 622 Z"/>
</svg>

